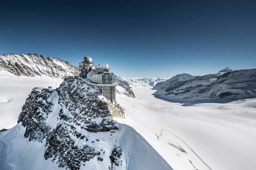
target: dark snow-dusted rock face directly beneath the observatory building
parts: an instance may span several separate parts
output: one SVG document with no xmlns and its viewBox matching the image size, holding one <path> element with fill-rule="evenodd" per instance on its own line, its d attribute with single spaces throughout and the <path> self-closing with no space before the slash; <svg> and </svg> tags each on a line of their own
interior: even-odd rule
<svg viewBox="0 0 256 170">
<path fill-rule="evenodd" d="M 93 141 L 96 144 L 92 145 L 85 132 L 118 130 L 110 110 L 115 108 L 121 116 L 124 113 L 118 104 L 111 104 L 84 81 L 69 79 L 53 91 L 33 89 L 22 107 L 18 123 L 26 127 L 24 137 L 29 141 L 46 141 L 45 159 L 52 159 L 59 167 L 77 170 L 95 156 L 103 160 L 102 150 L 93 146 L 100 140 L 96 139 Z M 84 144 L 76 145 L 76 139 Z"/>
</svg>

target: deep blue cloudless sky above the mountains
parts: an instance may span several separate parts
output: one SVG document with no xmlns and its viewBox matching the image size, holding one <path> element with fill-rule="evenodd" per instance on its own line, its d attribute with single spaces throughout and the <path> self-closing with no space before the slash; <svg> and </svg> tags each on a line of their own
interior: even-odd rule
<svg viewBox="0 0 256 170">
<path fill-rule="evenodd" d="M 0 54 L 74 65 L 90 55 L 123 77 L 256 66 L 256 1 L 1 2 L 0 11 Z"/>
</svg>

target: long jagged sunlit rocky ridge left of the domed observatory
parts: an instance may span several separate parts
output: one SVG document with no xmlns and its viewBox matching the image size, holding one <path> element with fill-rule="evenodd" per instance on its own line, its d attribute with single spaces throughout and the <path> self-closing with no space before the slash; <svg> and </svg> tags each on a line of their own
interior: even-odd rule
<svg viewBox="0 0 256 170">
<path fill-rule="evenodd" d="M 15 75 L 60 78 L 64 75 L 78 75 L 79 70 L 67 61 L 38 54 L 3 54 L 0 55 L 0 70 L 7 70 Z"/>
</svg>

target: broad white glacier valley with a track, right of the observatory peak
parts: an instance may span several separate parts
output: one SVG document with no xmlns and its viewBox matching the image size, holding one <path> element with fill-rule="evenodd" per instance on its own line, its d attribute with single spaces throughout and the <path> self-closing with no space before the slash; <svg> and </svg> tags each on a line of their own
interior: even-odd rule
<svg viewBox="0 0 256 170">
<path fill-rule="evenodd" d="M 256 98 L 184 107 L 152 96 L 151 87 L 133 91 L 136 98 L 116 95 L 127 114 L 120 122 L 140 132 L 173 169 L 256 169 Z"/>
</svg>

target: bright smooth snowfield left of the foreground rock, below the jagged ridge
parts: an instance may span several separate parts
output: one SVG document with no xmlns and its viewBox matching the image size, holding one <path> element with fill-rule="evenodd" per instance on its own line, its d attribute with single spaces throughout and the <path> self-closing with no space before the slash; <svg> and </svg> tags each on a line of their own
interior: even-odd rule
<svg viewBox="0 0 256 170">
<path fill-rule="evenodd" d="M 8 71 L 0 71 L 0 130 L 10 129 L 17 124 L 22 105 L 33 88 L 51 86 L 55 89 L 62 81 L 46 75 L 16 76 Z"/>
</svg>

